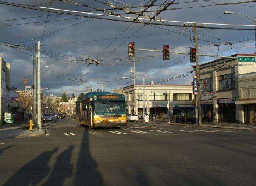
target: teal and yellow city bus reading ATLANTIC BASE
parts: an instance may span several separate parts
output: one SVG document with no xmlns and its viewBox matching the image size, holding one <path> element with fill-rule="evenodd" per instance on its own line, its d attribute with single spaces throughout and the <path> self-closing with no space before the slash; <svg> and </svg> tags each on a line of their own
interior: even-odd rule
<svg viewBox="0 0 256 186">
<path fill-rule="evenodd" d="M 109 92 L 88 92 L 76 102 L 77 123 L 89 129 L 127 126 L 125 96 Z"/>
</svg>

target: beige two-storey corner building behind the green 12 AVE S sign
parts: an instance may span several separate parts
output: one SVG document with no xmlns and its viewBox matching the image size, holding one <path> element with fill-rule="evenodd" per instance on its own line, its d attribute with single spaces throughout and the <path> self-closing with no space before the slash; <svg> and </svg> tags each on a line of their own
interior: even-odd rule
<svg viewBox="0 0 256 186">
<path fill-rule="evenodd" d="M 199 66 L 202 120 L 214 109 L 219 122 L 256 123 L 256 55 L 232 56 Z"/>
</svg>

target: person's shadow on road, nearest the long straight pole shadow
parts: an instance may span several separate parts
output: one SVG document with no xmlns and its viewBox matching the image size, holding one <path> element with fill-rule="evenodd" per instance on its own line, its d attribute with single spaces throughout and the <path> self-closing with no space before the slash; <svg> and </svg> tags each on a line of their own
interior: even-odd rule
<svg viewBox="0 0 256 186">
<path fill-rule="evenodd" d="M 53 171 L 43 185 L 63 185 L 65 179 L 72 176 L 73 165 L 70 164 L 70 161 L 73 149 L 74 145 L 70 145 L 56 158 Z"/>
</svg>

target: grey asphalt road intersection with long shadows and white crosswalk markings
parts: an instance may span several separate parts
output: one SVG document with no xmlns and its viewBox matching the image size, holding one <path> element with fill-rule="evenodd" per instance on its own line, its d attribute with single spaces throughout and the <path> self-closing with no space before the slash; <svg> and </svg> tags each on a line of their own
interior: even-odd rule
<svg viewBox="0 0 256 186">
<path fill-rule="evenodd" d="M 256 185 L 256 132 L 129 122 L 0 142 L 2 185 Z"/>
</svg>

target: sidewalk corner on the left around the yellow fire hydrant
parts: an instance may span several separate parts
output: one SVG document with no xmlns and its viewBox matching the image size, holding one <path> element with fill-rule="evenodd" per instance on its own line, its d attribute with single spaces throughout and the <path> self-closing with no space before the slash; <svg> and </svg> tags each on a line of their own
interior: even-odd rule
<svg viewBox="0 0 256 186">
<path fill-rule="evenodd" d="M 32 131 L 29 131 L 28 129 L 21 129 L 24 126 L 28 126 L 27 123 L 27 120 L 19 120 L 15 121 L 15 123 L 2 124 L 0 126 L 0 139 L 33 137 L 45 134 L 44 129 L 33 129 Z"/>
</svg>

